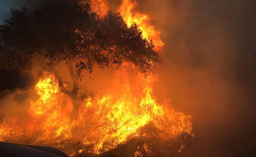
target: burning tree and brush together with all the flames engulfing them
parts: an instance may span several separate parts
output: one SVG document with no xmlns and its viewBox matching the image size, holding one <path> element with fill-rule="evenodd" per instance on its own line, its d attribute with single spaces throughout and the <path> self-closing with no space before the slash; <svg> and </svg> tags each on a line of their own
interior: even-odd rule
<svg viewBox="0 0 256 157">
<path fill-rule="evenodd" d="M 1 69 L 29 70 L 42 57 L 27 114 L 0 123 L 0 141 L 46 145 L 71 156 L 174 156 L 194 135 L 192 117 L 157 102 L 151 74 L 164 43 L 149 15 L 122 0 L 120 13 L 106 0 L 48 2 L 32 14 L 23 8 L 0 27 Z M 97 13 L 95 13 L 95 12 Z M 57 66 L 64 64 L 67 72 Z M 113 68 L 113 90 L 91 94 L 85 72 Z M 129 80 L 128 70 L 139 69 Z M 136 71 L 136 70 L 135 70 Z M 66 82 L 66 75 L 69 82 Z M 119 97 L 115 97 L 119 93 Z"/>
</svg>

